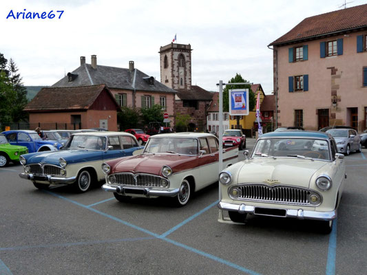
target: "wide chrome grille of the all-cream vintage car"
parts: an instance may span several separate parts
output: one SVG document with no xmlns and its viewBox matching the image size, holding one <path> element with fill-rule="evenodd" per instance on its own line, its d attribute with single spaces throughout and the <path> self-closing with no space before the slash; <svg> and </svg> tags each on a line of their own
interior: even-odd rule
<svg viewBox="0 0 367 275">
<path fill-rule="evenodd" d="M 240 190 L 240 197 L 231 196 L 233 199 L 300 205 L 310 205 L 308 197 L 313 193 L 310 190 L 293 186 L 266 186 L 263 184 L 247 184 L 233 186 L 233 188 Z M 231 194 L 231 190 L 229 193 Z"/>
</svg>

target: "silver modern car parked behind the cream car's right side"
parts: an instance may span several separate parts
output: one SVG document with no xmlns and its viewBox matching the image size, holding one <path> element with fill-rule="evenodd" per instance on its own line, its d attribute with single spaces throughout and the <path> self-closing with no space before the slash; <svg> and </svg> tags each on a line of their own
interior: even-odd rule
<svg viewBox="0 0 367 275">
<path fill-rule="evenodd" d="M 330 129 L 326 133 L 333 135 L 339 153 L 349 155 L 353 151 L 362 151 L 361 137 L 355 129 Z"/>
</svg>

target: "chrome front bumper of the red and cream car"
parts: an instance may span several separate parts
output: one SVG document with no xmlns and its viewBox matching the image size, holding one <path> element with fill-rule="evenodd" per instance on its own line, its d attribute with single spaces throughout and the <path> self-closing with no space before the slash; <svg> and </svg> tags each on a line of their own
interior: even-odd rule
<svg viewBox="0 0 367 275">
<path fill-rule="evenodd" d="M 180 188 L 156 190 L 152 187 L 136 187 L 136 186 L 110 186 L 109 184 L 103 184 L 103 190 L 107 192 L 116 192 L 120 195 L 143 195 L 145 197 L 174 197 L 180 191 Z"/>
</svg>

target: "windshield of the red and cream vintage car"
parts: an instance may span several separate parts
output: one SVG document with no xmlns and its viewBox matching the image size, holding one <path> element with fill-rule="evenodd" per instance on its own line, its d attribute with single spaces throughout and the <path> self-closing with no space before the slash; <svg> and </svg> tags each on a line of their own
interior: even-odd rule
<svg viewBox="0 0 367 275">
<path fill-rule="evenodd" d="M 144 153 L 198 155 L 198 140 L 186 137 L 155 137 L 149 140 Z"/>
</svg>

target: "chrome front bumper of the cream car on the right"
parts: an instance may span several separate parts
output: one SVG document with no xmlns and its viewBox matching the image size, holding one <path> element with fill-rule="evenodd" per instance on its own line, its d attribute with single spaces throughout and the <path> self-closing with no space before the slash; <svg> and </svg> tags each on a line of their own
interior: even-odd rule
<svg viewBox="0 0 367 275">
<path fill-rule="evenodd" d="M 237 211 L 241 214 L 257 214 L 255 212 L 255 206 L 247 206 L 244 203 L 242 204 L 234 204 L 234 203 L 225 203 L 220 201 L 218 203 L 218 208 L 220 210 L 227 211 Z M 264 208 L 264 207 L 259 207 Z M 281 209 L 281 208 L 269 208 L 269 209 Z M 276 216 L 273 214 L 259 214 L 262 216 L 272 216 L 272 217 L 286 217 L 286 218 L 296 218 L 296 219 L 316 219 L 320 221 L 331 221 L 337 217 L 336 210 L 328 211 L 328 212 L 318 212 L 318 211 L 310 211 L 310 210 L 302 210 L 302 209 L 284 209 L 286 210 L 285 216 Z"/>
</svg>

